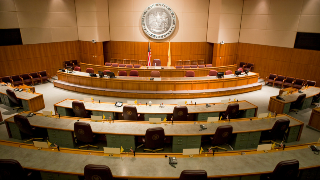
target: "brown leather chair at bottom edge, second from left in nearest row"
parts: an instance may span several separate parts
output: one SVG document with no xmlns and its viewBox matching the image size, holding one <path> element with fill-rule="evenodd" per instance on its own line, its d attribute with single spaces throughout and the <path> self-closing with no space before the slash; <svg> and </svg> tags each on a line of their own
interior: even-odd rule
<svg viewBox="0 0 320 180">
<path fill-rule="evenodd" d="M 113 180 L 111 169 L 106 165 L 88 164 L 84 167 L 84 178 L 89 180 Z"/>
</svg>

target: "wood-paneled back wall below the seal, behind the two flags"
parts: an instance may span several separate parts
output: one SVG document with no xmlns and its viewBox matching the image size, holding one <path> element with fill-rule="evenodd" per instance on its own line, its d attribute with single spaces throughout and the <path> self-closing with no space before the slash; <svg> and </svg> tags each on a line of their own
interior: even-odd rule
<svg viewBox="0 0 320 180">
<path fill-rule="evenodd" d="M 170 43 L 171 65 L 178 60 L 204 59 L 205 64 L 212 63 L 213 43 L 207 42 L 183 42 Z M 167 65 L 169 43 L 150 42 L 152 60 L 160 59 L 161 65 Z M 110 58 L 120 59 L 148 59 L 148 42 L 103 42 L 104 61 L 110 62 Z M 152 62 L 151 62 L 152 63 Z"/>
</svg>

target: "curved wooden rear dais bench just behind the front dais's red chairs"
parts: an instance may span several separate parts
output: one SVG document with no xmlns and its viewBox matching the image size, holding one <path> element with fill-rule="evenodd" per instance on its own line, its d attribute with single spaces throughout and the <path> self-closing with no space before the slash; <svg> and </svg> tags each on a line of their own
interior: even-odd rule
<svg viewBox="0 0 320 180">
<path fill-rule="evenodd" d="M 235 73 L 236 67 L 237 65 L 235 64 L 230 66 L 220 66 L 220 67 L 212 67 L 212 68 L 175 69 L 173 66 L 169 66 L 169 67 L 163 67 L 164 69 L 155 69 L 154 66 L 151 66 L 151 67 L 141 66 L 140 68 L 120 68 L 120 67 L 99 66 L 99 65 L 93 65 L 93 64 L 80 63 L 80 68 L 82 72 L 85 72 L 87 68 L 92 68 L 94 70 L 94 73 L 96 74 L 98 74 L 98 71 L 109 70 L 111 72 L 114 72 L 116 75 L 118 71 L 123 70 L 123 71 L 126 71 L 127 74 L 129 75 L 129 72 L 131 70 L 137 70 L 139 72 L 140 77 L 149 77 L 151 71 L 157 70 L 157 71 L 160 71 L 160 75 L 163 78 L 184 77 L 188 70 L 195 71 L 196 77 L 207 76 L 210 70 L 216 70 L 218 72 L 226 72 L 227 70 L 231 70 L 233 73 Z"/>
</svg>

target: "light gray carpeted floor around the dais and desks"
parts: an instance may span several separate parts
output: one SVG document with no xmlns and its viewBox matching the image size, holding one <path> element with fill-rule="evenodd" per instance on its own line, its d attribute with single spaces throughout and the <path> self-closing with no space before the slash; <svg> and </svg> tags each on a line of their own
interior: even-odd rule
<svg viewBox="0 0 320 180">
<path fill-rule="evenodd" d="M 56 77 L 53 77 L 55 80 Z M 263 83 L 263 80 L 259 79 L 260 83 Z M 60 102 L 64 99 L 83 99 L 84 97 L 90 98 L 93 97 L 94 101 L 101 101 L 101 102 L 116 102 L 116 101 L 122 101 L 122 102 L 127 102 L 128 100 L 134 101 L 135 99 L 128 99 L 128 98 L 116 98 L 116 97 L 106 97 L 106 96 L 98 96 L 98 95 L 91 95 L 91 94 L 83 94 L 83 93 L 76 93 L 68 90 L 63 90 L 57 87 L 53 86 L 53 83 L 45 82 L 43 85 L 40 83 L 35 84 L 36 92 L 41 93 L 44 96 L 44 104 L 45 108 L 43 110 L 52 110 L 54 111 L 53 104 Z M 262 90 L 254 91 L 254 92 L 249 92 L 249 93 L 244 93 L 244 94 L 237 94 L 237 95 L 231 95 L 231 96 L 222 96 L 222 97 L 213 97 L 213 98 L 200 98 L 200 99 L 186 99 L 188 102 L 191 100 L 196 103 L 215 103 L 215 102 L 220 102 L 221 99 L 229 99 L 231 98 L 232 100 L 236 98 L 237 100 L 246 100 L 248 102 L 251 102 L 252 104 L 258 106 L 258 114 L 259 113 L 266 113 L 270 112 L 268 111 L 268 104 L 269 104 L 269 99 L 270 96 L 275 96 L 279 94 L 279 86 L 272 87 L 270 85 L 262 86 Z M 151 101 L 154 104 L 177 104 L 178 101 L 183 101 L 183 100 L 161 100 L 161 99 L 137 99 L 137 101 L 141 101 L 141 103 L 146 103 Z M 300 138 L 299 142 L 292 142 L 292 143 L 286 143 L 287 145 L 294 145 L 294 144 L 302 144 L 302 143 L 311 143 L 311 142 L 317 142 L 319 137 L 320 137 L 320 132 L 311 130 L 306 127 L 308 124 L 310 115 L 311 115 L 311 110 L 312 108 L 315 108 L 314 105 L 311 105 L 308 109 L 301 110 L 298 112 L 298 114 L 295 114 L 294 112 L 290 112 L 290 116 L 293 118 L 296 118 L 302 122 L 304 122 L 304 127 L 302 131 L 302 135 Z M 0 102 L 0 110 L 2 113 L 3 119 L 9 118 L 11 116 L 14 116 L 17 114 L 16 110 L 12 110 L 12 108 L 9 108 L 5 105 L 3 105 Z M 19 112 L 22 112 L 23 110 L 19 110 Z M 40 110 L 39 112 L 42 112 Z M 9 139 L 7 135 L 7 131 L 5 128 L 5 125 L 0 125 L 0 139 L 4 140 L 10 140 L 10 141 L 15 141 L 15 142 L 21 142 L 20 140 L 16 139 Z M 99 145 L 98 145 L 99 146 Z M 100 147 L 100 146 L 99 146 Z M 103 147 L 103 146 L 102 146 Z M 225 147 L 229 149 L 227 146 Z M 102 148 L 103 149 L 103 148 Z M 229 149 L 230 150 L 230 149 Z M 169 150 L 170 151 L 170 150 Z"/>
</svg>

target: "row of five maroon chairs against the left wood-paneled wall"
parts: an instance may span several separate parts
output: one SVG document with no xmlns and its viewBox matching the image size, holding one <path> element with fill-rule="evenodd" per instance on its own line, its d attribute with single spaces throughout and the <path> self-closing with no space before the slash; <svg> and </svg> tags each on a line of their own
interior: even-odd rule
<svg viewBox="0 0 320 180">
<path fill-rule="evenodd" d="M 50 74 L 47 71 L 30 72 L 26 74 L 6 76 L 1 78 L 1 82 L 11 83 L 13 86 L 32 84 L 35 85 L 36 82 L 41 81 L 43 84 L 44 80 L 50 80 Z"/>
</svg>

